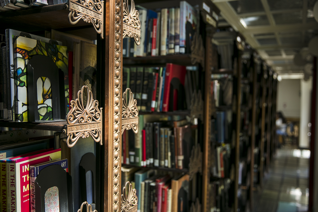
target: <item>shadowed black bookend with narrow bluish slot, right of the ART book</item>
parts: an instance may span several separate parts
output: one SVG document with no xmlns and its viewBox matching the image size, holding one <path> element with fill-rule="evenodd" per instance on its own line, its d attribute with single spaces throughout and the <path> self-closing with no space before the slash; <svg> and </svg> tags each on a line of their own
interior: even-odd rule
<svg viewBox="0 0 318 212">
<path fill-rule="evenodd" d="M 96 157 L 94 153 L 88 152 L 83 155 L 79 163 L 79 182 L 80 182 L 80 191 L 81 191 L 81 202 L 87 201 L 87 191 L 86 191 L 86 173 L 92 171 L 92 199 L 95 202 L 95 169 L 96 169 Z M 90 202 L 89 202 L 90 203 Z"/>
</svg>

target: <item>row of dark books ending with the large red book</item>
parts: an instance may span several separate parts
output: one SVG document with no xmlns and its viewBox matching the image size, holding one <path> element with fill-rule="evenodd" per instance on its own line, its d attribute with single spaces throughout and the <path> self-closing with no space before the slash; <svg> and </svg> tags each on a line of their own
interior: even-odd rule
<svg viewBox="0 0 318 212">
<path fill-rule="evenodd" d="M 198 71 L 172 63 L 166 67 L 123 67 L 123 91 L 130 88 L 140 111 L 190 110 L 197 82 Z"/>
</svg>

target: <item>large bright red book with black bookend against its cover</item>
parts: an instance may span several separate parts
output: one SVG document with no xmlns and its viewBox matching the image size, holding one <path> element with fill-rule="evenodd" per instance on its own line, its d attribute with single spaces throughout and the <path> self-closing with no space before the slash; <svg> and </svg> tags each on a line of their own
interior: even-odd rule
<svg viewBox="0 0 318 212">
<path fill-rule="evenodd" d="M 179 82 L 184 86 L 186 69 L 185 66 L 179 66 L 172 63 L 167 63 L 166 65 L 166 75 L 164 82 L 164 93 L 163 93 L 163 104 L 162 111 L 169 111 L 169 104 L 173 103 L 173 110 L 177 109 L 177 92 L 176 89 L 173 90 L 173 94 L 170 94 L 171 81 L 173 84 L 178 84 Z M 169 102 L 170 95 L 173 95 L 173 102 Z"/>
</svg>

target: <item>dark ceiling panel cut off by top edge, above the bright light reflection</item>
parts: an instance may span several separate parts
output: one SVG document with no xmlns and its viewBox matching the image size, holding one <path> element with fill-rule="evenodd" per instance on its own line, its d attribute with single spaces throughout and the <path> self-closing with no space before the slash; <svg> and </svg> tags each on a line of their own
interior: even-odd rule
<svg viewBox="0 0 318 212">
<path fill-rule="evenodd" d="M 260 0 L 239 0 L 229 2 L 237 14 L 248 12 L 264 12 Z"/>
</svg>

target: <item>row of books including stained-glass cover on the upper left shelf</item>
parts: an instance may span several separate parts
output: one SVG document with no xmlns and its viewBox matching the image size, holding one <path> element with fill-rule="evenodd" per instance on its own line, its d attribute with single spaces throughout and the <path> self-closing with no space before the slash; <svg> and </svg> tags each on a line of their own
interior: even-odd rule
<svg viewBox="0 0 318 212">
<path fill-rule="evenodd" d="M 97 48 L 93 40 L 55 30 L 46 31 L 45 37 L 12 29 L 5 32 L 7 46 L 0 53 L 0 120 L 66 119 L 69 102 L 77 98 L 83 85 L 96 98 Z M 54 65 L 41 62 L 44 60 L 39 60 L 39 55 L 52 59 Z M 32 70 L 28 70 L 30 67 Z M 57 74 L 43 73 L 43 67 L 52 67 Z"/>
</svg>

